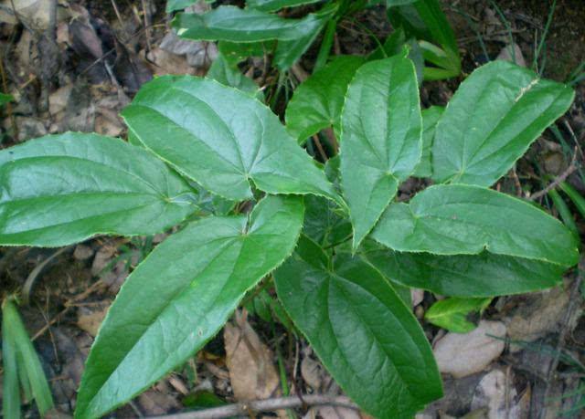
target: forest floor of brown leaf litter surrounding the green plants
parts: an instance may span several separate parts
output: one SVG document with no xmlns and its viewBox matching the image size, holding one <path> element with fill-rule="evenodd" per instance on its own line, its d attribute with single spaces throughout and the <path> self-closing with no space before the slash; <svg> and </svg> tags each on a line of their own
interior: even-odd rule
<svg viewBox="0 0 585 419">
<path fill-rule="evenodd" d="M 3 90 L 16 98 L 4 110 L 1 147 L 62 131 L 125 137 L 119 111 L 145 81 L 167 73 L 205 75 L 216 54 L 213 44 L 177 43 L 163 1 L 59 1 L 55 26 L 48 21 L 49 3 L 15 0 L 16 5 L 27 5 L 17 20 L 10 14 L 10 2 L 0 4 Z M 462 52 L 463 75 L 425 83 L 423 105 L 446 104 L 473 68 L 505 54 L 506 47 L 515 46 L 516 62 L 531 67 L 547 26 L 548 1 L 443 4 Z M 390 30 L 383 13 L 373 9 L 359 16 L 380 38 Z M 43 35 L 51 32 L 47 27 L 54 28 L 48 37 Z M 374 47 L 369 34 L 351 25 L 341 26 L 336 44 L 344 54 Z M 583 0 L 558 0 L 539 58 L 544 76 L 559 81 L 585 62 Z M 311 60 L 303 59 L 300 67 L 310 72 Z M 545 131 L 498 188 L 510 194 L 535 193 L 546 186 L 539 181 L 543 173 L 555 178 L 566 173 L 571 162 L 582 162 L 585 82 L 575 89 L 576 100 L 557 121 L 558 130 Z M 568 176 L 581 193 L 584 179 L 580 168 Z M 539 202 L 557 215 L 546 196 Z M 585 233 L 585 219 L 574 213 Z M 100 236 L 62 249 L 0 248 L 0 296 L 17 292 L 27 301 L 21 314 L 50 381 L 57 408 L 51 416 L 73 413 L 84 361 L 106 310 L 129 272 L 162 238 Z M 443 375 L 444 398 L 420 418 L 585 417 L 581 285 L 574 269 L 562 287 L 494 299 L 478 319 L 478 329 L 463 338 L 423 322 L 436 356 L 447 365 L 445 371 L 450 362 L 467 368 L 456 368 L 457 377 Z M 435 297 L 421 291 L 414 297 L 413 310 L 422 318 Z M 489 338 L 492 334 L 505 339 Z M 239 345 L 241 340 L 249 345 Z M 186 407 L 269 398 L 282 393 L 282 381 L 292 393 L 341 393 L 305 340 L 242 308 L 183 368 L 112 415 L 172 414 Z M 33 405 L 25 412 L 27 417 L 38 415 Z M 325 419 L 365 416 L 332 407 L 294 413 Z"/>
</svg>

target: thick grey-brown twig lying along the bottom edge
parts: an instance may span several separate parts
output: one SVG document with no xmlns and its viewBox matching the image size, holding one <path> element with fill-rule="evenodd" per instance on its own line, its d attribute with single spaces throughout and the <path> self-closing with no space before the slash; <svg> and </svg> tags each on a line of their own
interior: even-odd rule
<svg viewBox="0 0 585 419">
<path fill-rule="evenodd" d="M 303 403 L 304 402 L 304 403 Z M 274 412 L 281 409 L 293 409 L 295 407 L 307 406 L 339 406 L 348 409 L 358 410 L 355 403 L 352 403 L 345 396 L 328 396 L 319 394 L 305 394 L 303 400 L 298 396 L 277 397 L 274 399 L 255 400 L 252 402 L 241 402 L 227 404 L 221 407 L 186 412 L 184 414 L 168 414 L 164 416 L 151 416 L 154 419 L 219 419 L 236 416 L 238 414 L 248 415 L 251 412 Z"/>
</svg>

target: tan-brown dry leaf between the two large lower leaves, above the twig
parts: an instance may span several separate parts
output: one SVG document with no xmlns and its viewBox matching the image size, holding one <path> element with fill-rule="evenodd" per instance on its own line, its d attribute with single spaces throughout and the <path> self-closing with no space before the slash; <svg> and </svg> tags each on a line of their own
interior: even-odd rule
<svg viewBox="0 0 585 419">
<path fill-rule="evenodd" d="M 280 393 L 273 355 L 246 319 L 224 328 L 226 363 L 236 399 L 267 399 Z"/>
</svg>

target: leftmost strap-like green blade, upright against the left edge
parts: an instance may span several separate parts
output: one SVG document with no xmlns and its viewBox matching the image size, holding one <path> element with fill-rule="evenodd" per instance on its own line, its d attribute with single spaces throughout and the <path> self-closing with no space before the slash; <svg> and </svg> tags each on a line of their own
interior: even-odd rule
<svg viewBox="0 0 585 419">
<path fill-rule="evenodd" d="M 9 308 L 13 303 L 5 299 L 2 303 L 2 414 L 6 419 L 19 419 L 20 415 L 20 389 L 18 387 L 18 363 L 16 361 L 16 344 L 14 330 L 16 324 L 14 314 L 9 312 L 16 310 Z M 17 314 L 16 314 L 17 315 Z"/>
</svg>

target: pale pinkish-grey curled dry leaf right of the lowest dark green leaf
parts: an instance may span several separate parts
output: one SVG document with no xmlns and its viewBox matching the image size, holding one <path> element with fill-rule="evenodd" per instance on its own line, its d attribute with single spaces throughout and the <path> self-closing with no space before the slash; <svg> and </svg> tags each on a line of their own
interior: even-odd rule
<svg viewBox="0 0 585 419">
<path fill-rule="evenodd" d="M 455 378 L 482 371 L 504 351 L 505 324 L 482 320 L 469 333 L 447 333 L 435 344 L 433 353 L 439 371 Z"/>
</svg>

